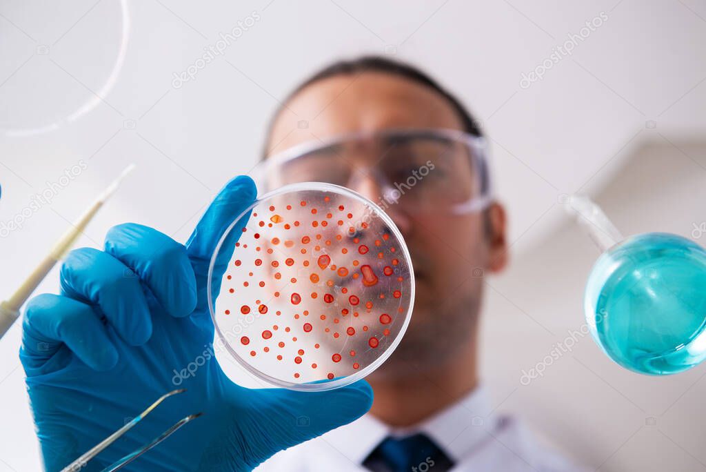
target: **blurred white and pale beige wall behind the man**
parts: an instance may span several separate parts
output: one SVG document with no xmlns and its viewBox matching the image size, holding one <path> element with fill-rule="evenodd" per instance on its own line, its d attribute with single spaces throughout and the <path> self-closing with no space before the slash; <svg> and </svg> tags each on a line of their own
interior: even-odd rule
<svg viewBox="0 0 706 472">
<path fill-rule="evenodd" d="M 126 220 L 186 240 L 225 180 L 256 163 L 268 117 L 299 79 L 339 57 L 392 54 L 457 92 L 491 137 L 514 242 L 510 270 L 486 281 L 483 372 L 497 408 L 595 469 L 706 471 L 706 365 L 642 377 L 581 338 L 544 377 L 520 384 L 523 369 L 583 322 L 597 250 L 565 220 L 562 194 L 591 194 L 626 234 L 690 237 L 706 220 L 702 0 L 127 4 L 124 65 L 103 92 L 121 44 L 119 0 L 0 0 L 0 228 L 86 164 L 22 228 L 1 233 L 0 297 L 131 162 L 136 172 L 79 244 L 100 247 Z M 223 56 L 172 86 L 174 72 L 253 11 L 260 20 Z M 607 20 L 572 55 L 520 86 L 601 12 Z M 18 136 L 92 100 L 83 117 Z M 0 343 L 0 471 L 40 468 L 19 338 L 15 326 Z"/>
</svg>

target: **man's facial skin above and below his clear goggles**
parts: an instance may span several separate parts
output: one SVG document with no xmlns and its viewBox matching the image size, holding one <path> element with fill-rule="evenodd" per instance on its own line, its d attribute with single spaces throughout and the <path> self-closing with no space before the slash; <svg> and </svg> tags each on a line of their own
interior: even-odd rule
<svg viewBox="0 0 706 472">
<path fill-rule="evenodd" d="M 273 124 L 268 155 L 300 143 L 357 131 L 462 131 L 460 117 L 445 98 L 424 85 L 387 73 L 325 78 L 301 90 L 286 105 Z M 302 120 L 306 120 L 306 126 Z M 361 152 L 353 159 L 361 167 L 374 167 L 379 155 Z M 316 180 L 322 180 L 321 175 Z M 383 197 L 373 178 L 357 178 L 347 186 L 374 202 Z M 386 211 L 405 237 L 417 282 L 407 334 L 390 360 L 376 372 L 392 376 L 433 367 L 474 341 L 483 275 L 501 268 L 503 264 L 493 259 L 505 247 L 503 235 L 486 235 L 483 213 L 415 213 L 394 203 Z M 499 218 L 503 220 L 499 206 L 494 205 L 491 211 L 501 213 Z M 496 230 L 504 232 L 504 224 L 496 226 Z"/>
</svg>

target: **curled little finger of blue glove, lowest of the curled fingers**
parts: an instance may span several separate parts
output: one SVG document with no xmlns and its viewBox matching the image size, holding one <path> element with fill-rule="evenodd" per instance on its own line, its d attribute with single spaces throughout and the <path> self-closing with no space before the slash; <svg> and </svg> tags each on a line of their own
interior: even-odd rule
<svg viewBox="0 0 706 472">
<path fill-rule="evenodd" d="M 109 370 L 118 351 L 93 307 L 62 295 L 32 298 L 23 317 L 20 360 L 25 370 L 41 368 L 62 346 L 93 370 Z"/>
</svg>

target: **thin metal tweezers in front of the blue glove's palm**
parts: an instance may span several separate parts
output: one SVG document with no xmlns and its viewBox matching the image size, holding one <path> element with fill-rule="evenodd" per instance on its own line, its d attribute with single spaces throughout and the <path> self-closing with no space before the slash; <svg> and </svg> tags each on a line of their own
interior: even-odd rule
<svg viewBox="0 0 706 472">
<path fill-rule="evenodd" d="M 119 430 L 114 432 L 112 435 L 108 436 L 107 438 L 103 439 L 101 442 L 96 444 L 94 447 L 88 450 L 88 452 L 85 452 L 85 454 L 81 455 L 76 461 L 73 461 L 71 464 L 68 464 L 68 466 L 64 467 L 61 469 L 61 472 L 76 472 L 79 471 L 81 468 L 83 468 L 86 464 L 88 464 L 88 461 L 93 459 L 95 456 L 100 454 L 100 452 L 107 448 L 110 444 L 113 444 L 116 439 L 124 435 L 126 432 L 131 430 L 133 426 L 135 426 L 137 423 L 140 422 L 145 416 L 150 414 L 152 410 L 157 408 L 164 399 L 167 399 L 167 397 L 176 395 L 176 394 L 181 394 L 182 392 L 186 391 L 186 389 L 177 389 L 177 390 L 172 390 L 168 392 L 167 394 L 162 395 L 155 403 L 152 403 L 150 406 L 148 406 L 145 411 L 140 413 L 139 415 L 136 416 L 133 420 L 131 420 L 129 423 L 121 427 Z M 160 442 L 164 441 L 164 439 L 167 439 L 167 437 L 171 436 L 172 433 L 177 431 L 180 427 L 186 425 L 186 423 L 189 423 L 189 421 L 193 420 L 194 418 L 198 418 L 201 416 L 203 413 L 196 413 L 193 415 L 186 416 L 186 418 L 181 418 L 181 420 L 177 421 L 177 423 L 174 423 L 172 427 L 169 427 L 169 429 L 165 430 L 162 432 L 161 435 L 155 437 L 155 439 L 152 439 L 152 441 L 148 442 L 142 447 L 139 447 L 138 449 L 135 449 L 133 452 L 130 454 L 124 456 L 122 459 L 119 459 L 118 461 L 114 462 L 110 466 L 107 466 L 102 470 L 102 472 L 113 472 L 117 471 L 127 464 L 130 464 L 132 461 L 137 459 L 139 456 L 142 454 L 145 454 L 145 452 L 148 452 L 152 447 L 155 447 L 157 444 L 160 444 Z"/>
</svg>

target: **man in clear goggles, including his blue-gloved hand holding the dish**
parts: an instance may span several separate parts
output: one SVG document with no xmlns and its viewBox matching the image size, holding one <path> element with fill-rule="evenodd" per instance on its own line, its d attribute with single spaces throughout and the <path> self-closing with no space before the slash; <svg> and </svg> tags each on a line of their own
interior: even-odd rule
<svg viewBox="0 0 706 472">
<path fill-rule="evenodd" d="M 76 467 L 102 470 L 134 458 L 140 446 L 188 418 L 139 456 L 134 470 L 249 471 L 370 409 L 359 422 L 265 467 L 569 470 L 528 442 L 513 420 L 495 418 L 479 389 L 480 275 L 500 271 L 507 248 L 503 208 L 490 199 L 483 143 L 467 112 L 423 74 L 383 59 L 337 64 L 294 93 L 287 107 L 311 117 L 309 128 L 280 112 L 270 148 L 326 144 L 277 166 L 280 177 L 342 183 L 379 201 L 414 259 L 412 324 L 370 377 L 372 408 L 365 381 L 323 392 L 249 390 L 213 359 L 208 265 L 233 216 L 255 199 L 252 180 L 241 176 L 222 189 L 185 245 L 143 225 L 116 226 L 102 251 L 68 255 L 60 295 L 28 303 L 20 360 L 47 469 L 64 468 L 172 391 L 148 418 Z M 228 261 L 225 253 L 215 261 L 215 281 Z M 188 365 L 199 367 L 192 372 Z M 306 427 L 297 423 L 301 417 Z"/>
</svg>

